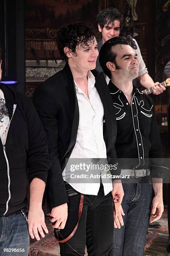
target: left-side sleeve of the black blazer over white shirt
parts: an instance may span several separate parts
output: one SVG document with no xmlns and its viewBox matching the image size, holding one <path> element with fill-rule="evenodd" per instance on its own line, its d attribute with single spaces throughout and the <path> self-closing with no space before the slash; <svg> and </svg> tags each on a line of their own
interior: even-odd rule
<svg viewBox="0 0 170 256">
<path fill-rule="evenodd" d="M 56 92 L 48 84 L 43 83 L 34 92 L 33 103 L 47 135 L 51 168 L 47 177 L 47 202 L 49 208 L 68 202 L 65 183 L 59 159 L 59 106 L 55 98 Z"/>
</svg>

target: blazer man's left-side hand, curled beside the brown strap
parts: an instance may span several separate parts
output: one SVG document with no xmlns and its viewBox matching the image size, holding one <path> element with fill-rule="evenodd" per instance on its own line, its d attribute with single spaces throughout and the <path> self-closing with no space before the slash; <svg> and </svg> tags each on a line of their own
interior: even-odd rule
<svg viewBox="0 0 170 256">
<path fill-rule="evenodd" d="M 52 223 L 56 221 L 56 223 L 53 224 L 52 227 L 63 229 L 65 227 L 65 223 L 67 221 L 68 216 L 67 203 L 52 208 L 52 211 L 49 212 L 49 214 L 52 217 L 50 218 L 50 221 Z"/>
</svg>

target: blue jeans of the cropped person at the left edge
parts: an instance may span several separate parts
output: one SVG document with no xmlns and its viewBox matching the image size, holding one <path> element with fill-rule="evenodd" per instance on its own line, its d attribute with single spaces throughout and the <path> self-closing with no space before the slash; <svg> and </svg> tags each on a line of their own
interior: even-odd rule
<svg viewBox="0 0 170 256">
<path fill-rule="evenodd" d="M 28 256 L 29 243 L 28 223 L 21 211 L 0 217 L 0 256 Z"/>
</svg>

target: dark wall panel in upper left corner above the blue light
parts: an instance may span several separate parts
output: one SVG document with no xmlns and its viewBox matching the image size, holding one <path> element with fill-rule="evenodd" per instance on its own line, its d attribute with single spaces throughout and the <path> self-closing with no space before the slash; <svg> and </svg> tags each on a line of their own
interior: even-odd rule
<svg viewBox="0 0 170 256">
<path fill-rule="evenodd" d="M 24 0 L 0 0 L 0 45 L 2 80 L 18 81 L 25 91 Z"/>
</svg>

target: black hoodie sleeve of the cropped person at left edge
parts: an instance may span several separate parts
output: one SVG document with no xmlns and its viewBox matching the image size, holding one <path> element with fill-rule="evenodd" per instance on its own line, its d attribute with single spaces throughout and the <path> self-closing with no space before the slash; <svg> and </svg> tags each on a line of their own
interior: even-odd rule
<svg viewBox="0 0 170 256">
<path fill-rule="evenodd" d="M 31 100 L 26 98 L 26 120 L 28 125 L 28 176 L 32 179 L 39 178 L 45 183 L 47 172 L 50 169 L 50 159 L 47 147 L 47 139 L 44 129 Z"/>
</svg>

